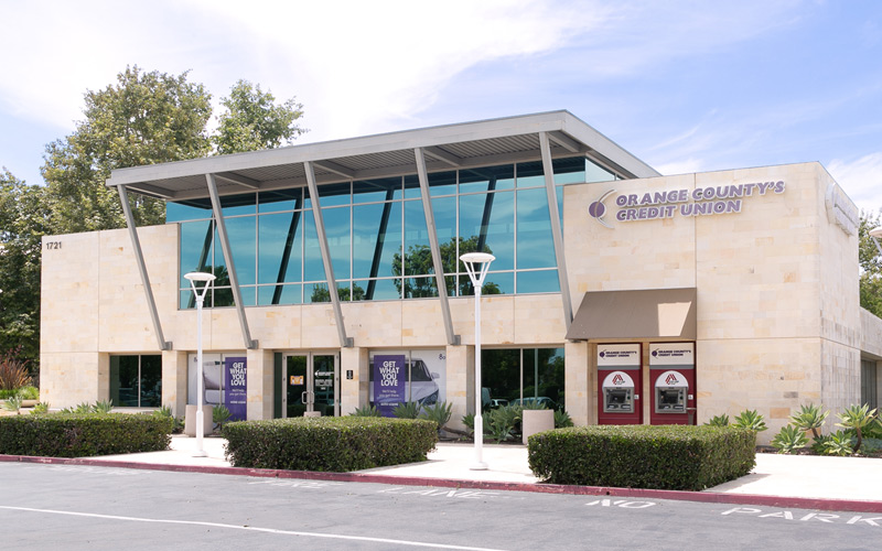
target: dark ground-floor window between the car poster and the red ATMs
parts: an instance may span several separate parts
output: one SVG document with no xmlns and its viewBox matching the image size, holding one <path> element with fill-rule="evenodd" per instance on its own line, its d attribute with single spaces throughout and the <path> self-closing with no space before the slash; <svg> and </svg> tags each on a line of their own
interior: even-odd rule
<svg viewBox="0 0 882 551">
<path fill-rule="evenodd" d="M 484 408 L 541 403 L 563 409 L 563 348 L 481 350 Z"/>
</svg>

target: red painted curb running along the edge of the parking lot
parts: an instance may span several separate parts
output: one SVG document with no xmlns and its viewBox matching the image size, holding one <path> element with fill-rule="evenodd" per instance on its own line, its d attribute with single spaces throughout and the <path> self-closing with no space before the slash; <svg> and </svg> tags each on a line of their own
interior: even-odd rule
<svg viewBox="0 0 882 551">
<path fill-rule="evenodd" d="M 40 463 L 46 465 L 85 465 L 97 467 L 138 468 L 174 473 L 205 473 L 261 478 L 300 478 L 308 480 L 354 482 L 389 484 L 394 486 L 435 486 L 442 488 L 471 488 L 498 491 L 534 491 L 539 494 L 568 494 L 577 496 L 609 496 L 641 499 L 671 499 L 706 504 L 759 505 L 794 509 L 828 511 L 880 512 L 882 501 L 858 499 L 827 499 L 787 496 L 760 496 L 754 494 L 723 494 L 719 491 L 684 491 L 669 489 L 616 488 L 602 486 L 572 486 L 562 484 L 507 483 L 492 480 L 462 480 L 418 476 L 391 476 L 370 473 L 320 473 L 315 471 L 282 471 L 273 468 L 212 467 L 200 465 L 164 465 L 118 460 L 88 457 L 34 457 L 30 455 L 0 455 L 0 463 Z"/>
</svg>

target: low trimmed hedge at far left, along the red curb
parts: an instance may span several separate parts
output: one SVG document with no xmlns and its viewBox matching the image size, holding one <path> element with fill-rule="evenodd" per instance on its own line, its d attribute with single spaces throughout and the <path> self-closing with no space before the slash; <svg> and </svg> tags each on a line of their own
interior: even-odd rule
<svg viewBox="0 0 882 551">
<path fill-rule="evenodd" d="M 172 420 L 132 413 L 0 417 L 0 454 L 87 457 L 169 449 Z"/>
</svg>

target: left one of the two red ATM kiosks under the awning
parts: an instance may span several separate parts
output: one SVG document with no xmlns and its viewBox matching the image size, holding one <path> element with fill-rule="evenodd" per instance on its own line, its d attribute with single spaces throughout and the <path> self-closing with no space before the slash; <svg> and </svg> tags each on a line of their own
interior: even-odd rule
<svg viewBox="0 0 882 551">
<path fill-rule="evenodd" d="M 598 345 L 598 424 L 641 424 L 641 345 Z"/>
</svg>

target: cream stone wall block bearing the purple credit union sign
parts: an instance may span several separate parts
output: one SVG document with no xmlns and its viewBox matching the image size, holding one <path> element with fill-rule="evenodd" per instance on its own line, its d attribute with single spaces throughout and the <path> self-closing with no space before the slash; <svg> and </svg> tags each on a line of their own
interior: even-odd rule
<svg viewBox="0 0 882 551">
<path fill-rule="evenodd" d="M 685 217 L 677 204 L 669 218 L 615 218 L 622 195 L 765 182 L 784 182 L 784 193 L 754 190 L 742 197 L 740 213 Z M 827 219 L 831 183 L 819 164 L 807 163 L 567 186 L 574 307 L 588 291 L 697 288 L 699 423 L 757 409 L 770 425 L 762 441 L 803 403 L 853 400 L 861 335 L 857 242 Z M 604 201 L 604 219 L 613 229 L 587 213 L 609 190 L 615 193 Z M 582 369 L 568 356 L 568 382 L 577 375 L 571 368 Z"/>
</svg>

